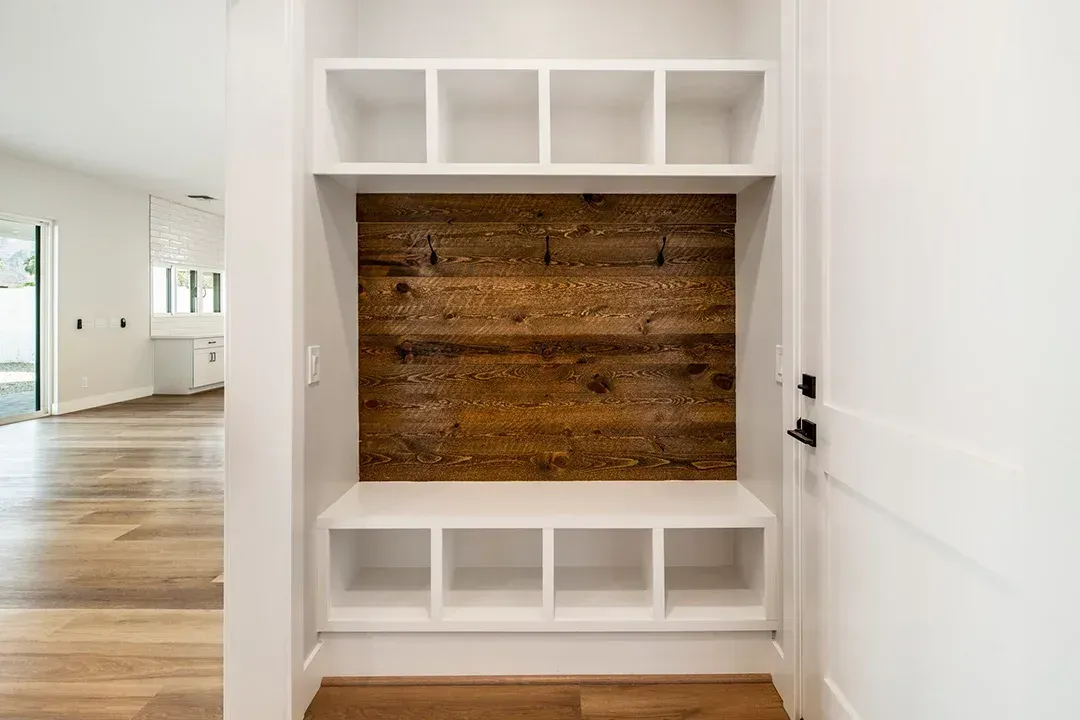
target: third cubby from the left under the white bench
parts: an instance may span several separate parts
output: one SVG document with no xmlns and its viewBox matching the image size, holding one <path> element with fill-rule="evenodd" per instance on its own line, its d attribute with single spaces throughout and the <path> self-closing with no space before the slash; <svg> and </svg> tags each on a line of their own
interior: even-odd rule
<svg viewBox="0 0 1080 720">
<path fill-rule="evenodd" d="M 652 530 L 555 530 L 555 620 L 651 620 Z"/>
</svg>

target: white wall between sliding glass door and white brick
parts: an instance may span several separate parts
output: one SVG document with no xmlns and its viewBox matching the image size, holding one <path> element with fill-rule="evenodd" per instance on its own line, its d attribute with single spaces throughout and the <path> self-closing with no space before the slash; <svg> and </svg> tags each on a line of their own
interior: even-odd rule
<svg viewBox="0 0 1080 720">
<path fill-rule="evenodd" d="M 56 222 L 60 412 L 153 390 L 148 205 L 146 193 L 0 154 L 0 212 Z M 77 330 L 80 317 L 84 329 Z M 127 327 L 93 328 L 94 318 L 110 317 L 125 317 Z"/>
</svg>

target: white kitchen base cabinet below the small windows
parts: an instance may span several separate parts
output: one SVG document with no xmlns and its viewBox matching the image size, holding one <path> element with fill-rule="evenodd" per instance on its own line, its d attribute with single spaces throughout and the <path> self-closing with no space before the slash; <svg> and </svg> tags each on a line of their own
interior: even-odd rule
<svg viewBox="0 0 1080 720">
<path fill-rule="evenodd" d="M 188 395 L 225 384 L 225 338 L 154 338 L 153 392 Z"/>
</svg>

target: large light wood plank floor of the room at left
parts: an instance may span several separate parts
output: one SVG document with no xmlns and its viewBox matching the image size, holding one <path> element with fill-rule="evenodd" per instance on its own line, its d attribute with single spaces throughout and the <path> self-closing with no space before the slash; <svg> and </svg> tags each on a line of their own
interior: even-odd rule
<svg viewBox="0 0 1080 720">
<path fill-rule="evenodd" d="M 0 718 L 221 717 L 224 394 L 0 426 Z"/>
</svg>

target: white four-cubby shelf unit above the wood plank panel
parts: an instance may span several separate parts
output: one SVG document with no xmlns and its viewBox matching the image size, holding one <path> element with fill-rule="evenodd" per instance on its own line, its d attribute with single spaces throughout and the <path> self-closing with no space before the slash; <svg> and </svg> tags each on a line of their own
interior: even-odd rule
<svg viewBox="0 0 1080 720">
<path fill-rule="evenodd" d="M 312 166 L 354 177 L 777 174 L 775 63 L 329 58 Z M 685 186 L 684 186 L 684 189 Z"/>
</svg>

